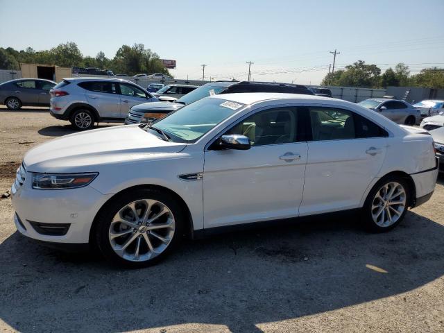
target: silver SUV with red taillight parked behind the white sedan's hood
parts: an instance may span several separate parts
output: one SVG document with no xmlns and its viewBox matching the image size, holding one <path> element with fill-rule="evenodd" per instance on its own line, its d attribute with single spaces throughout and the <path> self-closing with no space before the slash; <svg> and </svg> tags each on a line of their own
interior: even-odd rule
<svg viewBox="0 0 444 333">
<path fill-rule="evenodd" d="M 121 78 L 65 78 L 51 89 L 49 112 L 87 130 L 94 123 L 123 122 L 134 105 L 155 101 L 144 88 Z"/>
</svg>

